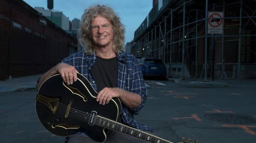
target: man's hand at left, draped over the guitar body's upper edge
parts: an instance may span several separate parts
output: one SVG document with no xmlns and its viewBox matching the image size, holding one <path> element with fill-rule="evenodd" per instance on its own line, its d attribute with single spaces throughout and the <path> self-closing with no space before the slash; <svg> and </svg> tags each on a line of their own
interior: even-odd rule
<svg viewBox="0 0 256 143">
<path fill-rule="evenodd" d="M 76 69 L 73 66 L 70 66 L 66 63 L 59 63 L 56 65 L 56 71 L 60 73 L 60 76 L 62 77 L 63 81 L 65 83 L 73 84 L 73 81 L 76 81 Z"/>
</svg>

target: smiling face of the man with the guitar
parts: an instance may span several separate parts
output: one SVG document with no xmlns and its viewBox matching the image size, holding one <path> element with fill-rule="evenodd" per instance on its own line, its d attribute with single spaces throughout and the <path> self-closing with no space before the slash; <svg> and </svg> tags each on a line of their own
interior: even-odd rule
<svg viewBox="0 0 256 143">
<path fill-rule="evenodd" d="M 96 16 L 91 22 L 93 46 L 95 48 L 113 47 L 112 24 L 101 15 Z"/>
</svg>

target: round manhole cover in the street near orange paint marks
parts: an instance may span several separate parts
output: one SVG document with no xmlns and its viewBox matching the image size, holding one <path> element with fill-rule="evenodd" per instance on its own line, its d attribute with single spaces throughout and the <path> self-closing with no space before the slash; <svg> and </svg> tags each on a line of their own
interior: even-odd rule
<svg viewBox="0 0 256 143">
<path fill-rule="evenodd" d="M 206 114 L 205 118 L 218 121 L 223 123 L 234 123 L 234 124 L 251 124 L 256 123 L 256 120 L 253 118 L 249 118 L 247 116 L 242 115 L 234 115 L 234 114 Z"/>
</svg>

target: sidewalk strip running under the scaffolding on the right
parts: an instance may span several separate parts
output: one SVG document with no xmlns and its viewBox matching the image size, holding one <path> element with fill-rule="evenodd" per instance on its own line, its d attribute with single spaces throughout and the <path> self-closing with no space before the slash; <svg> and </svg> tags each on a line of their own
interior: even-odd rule
<svg viewBox="0 0 256 143">
<path fill-rule="evenodd" d="M 190 87 L 256 87 L 256 79 L 214 79 L 214 81 L 208 79 L 208 81 L 205 82 L 204 78 L 185 78 L 185 80 L 181 80 L 178 77 L 174 77 L 168 78 L 168 80 L 174 83 L 179 83 Z"/>
</svg>

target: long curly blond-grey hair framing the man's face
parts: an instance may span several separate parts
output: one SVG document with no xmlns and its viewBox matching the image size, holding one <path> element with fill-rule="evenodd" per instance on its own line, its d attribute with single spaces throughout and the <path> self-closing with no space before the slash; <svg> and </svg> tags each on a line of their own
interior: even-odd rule
<svg viewBox="0 0 256 143">
<path fill-rule="evenodd" d="M 82 46 L 86 47 L 85 53 L 92 55 L 95 52 L 92 45 L 91 22 L 98 15 L 105 17 L 112 24 L 114 52 L 124 53 L 124 25 L 112 8 L 99 4 L 86 8 L 81 18 L 78 29 L 78 41 Z"/>
</svg>

